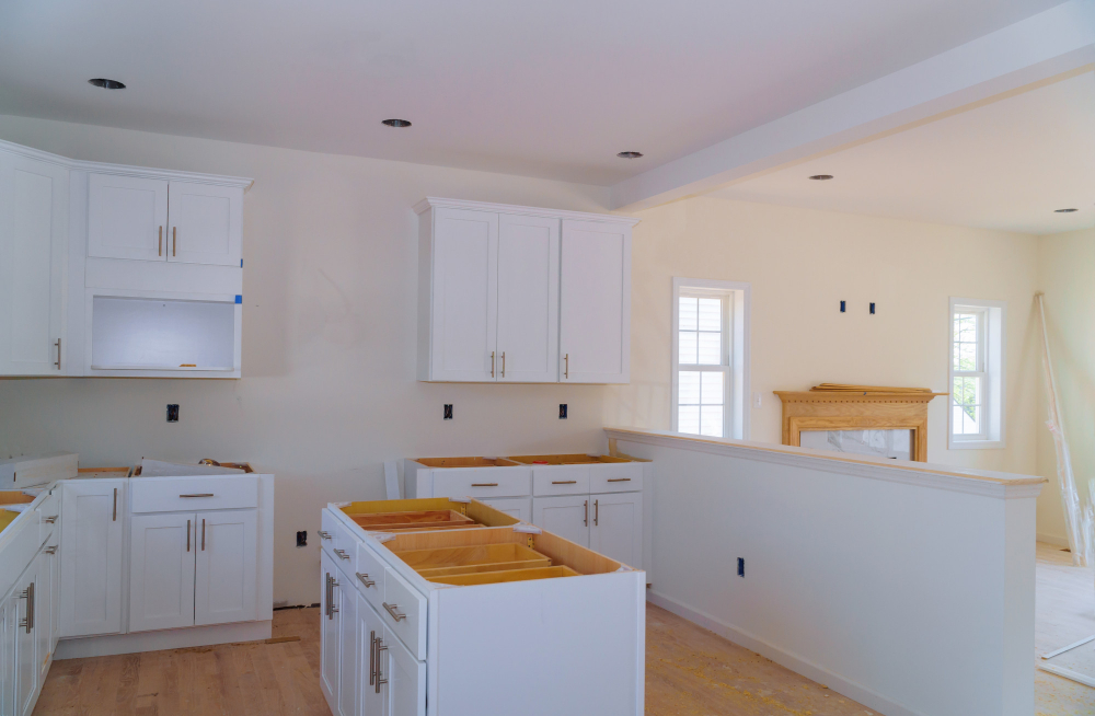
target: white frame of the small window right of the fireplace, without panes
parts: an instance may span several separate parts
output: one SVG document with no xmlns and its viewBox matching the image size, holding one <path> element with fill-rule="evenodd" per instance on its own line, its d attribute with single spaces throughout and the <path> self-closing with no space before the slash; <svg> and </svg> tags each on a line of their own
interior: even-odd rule
<svg viewBox="0 0 1095 716">
<path fill-rule="evenodd" d="M 984 299 L 950 298 L 950 312 L 947 317 L 949 338 L 947 345 L 947 448 L 950 450 L 994 450 L 1004 447 L 1004 311 L 1005 301 Z M 978 371 L 955 370 L 955 314 L 961 312 L 980 313 L 981 335 L 978 343 L 982 347 L 982 365 Z M 955 378 L 961 376 L 981 376 L 981 425 L 980 435 L 956 435 L 954 425 L 954 385 Z"/>
</svg>

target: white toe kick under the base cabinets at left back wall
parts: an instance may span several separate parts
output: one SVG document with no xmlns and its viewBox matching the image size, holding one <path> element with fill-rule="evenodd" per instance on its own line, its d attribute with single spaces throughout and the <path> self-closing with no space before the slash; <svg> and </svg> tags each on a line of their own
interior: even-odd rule
<svg viewBox="0 0 1095 716">
<path fill-rule="evenodd" d="M 83 659 L 137 651 L 160 651 L 183 649 L 192 646 L 231 644 L 233 642 L 256 642 L 270 638 L 274 622 L 238 622 L 212 626 L 192 626 L 163 632 L 137 632 L 134 634 L 107 634 L 60 639 L 54 653 L 54 660 Z"/>
</svg>

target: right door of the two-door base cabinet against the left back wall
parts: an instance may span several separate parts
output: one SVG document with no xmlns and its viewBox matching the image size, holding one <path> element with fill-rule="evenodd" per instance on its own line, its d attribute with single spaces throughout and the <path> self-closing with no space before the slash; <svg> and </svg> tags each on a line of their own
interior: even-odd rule
<svg viewBox="0 0 1095 716">
<path fill-rule="evenodd" d="M 197 571 L 194 623 L 255 619 L 258 573 L 255 510 L 198 512 L 194 522 Z"/>
</svg>

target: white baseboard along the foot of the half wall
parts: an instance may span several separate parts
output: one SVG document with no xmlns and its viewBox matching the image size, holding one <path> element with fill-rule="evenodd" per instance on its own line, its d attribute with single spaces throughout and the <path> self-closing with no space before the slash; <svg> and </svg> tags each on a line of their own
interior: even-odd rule
<svg viewBox="0 0 1095 716">
<path fill-rule="evenodd" d="M 820 684 L 825 684 L 837 693 L 848 696 L 849 698 L 853 698 L 867 708 L 873 708 L 880 714 L 885 714 L 885 716 L 926 716 L 926 714 L 923 714 L 922 712 L 913 711 L 907 706 L 892 702 L 881 694 L 875 693 L 865 686 L 861 686 L 855 682 L 849 681 L 848 679 L 832 673 L 831 671 L 791 654 L 789 651 L 784 651 L 779 647 L 772 646 L 768 642 L 759 639 L 748 632 L 744 632 L 736 626 L 730 626 L 729 624 L 721 622 L 711 614 L 687 607 L 670 597 L 666 597 L 665 594 L 654 591 L 653 589 L 648 589 L 646 591 L 646 599 L 656 607 L 660 607 L 666 611 L 687 619 L 693 624 L 699 624 L 705 630 L 714 632 L 723 638 L 734 642 L 738 646 L 742 646 L 750 651 L 756 651 L 762 657 L 771 659 L 780 666 L 791 669 L 795 673 L 799 673 L 807 679 L 812 679 Z"/>
</svg>

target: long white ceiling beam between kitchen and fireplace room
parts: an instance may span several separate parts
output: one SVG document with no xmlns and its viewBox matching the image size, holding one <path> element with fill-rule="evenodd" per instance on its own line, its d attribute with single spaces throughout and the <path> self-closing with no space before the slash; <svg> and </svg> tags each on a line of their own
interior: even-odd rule
<svg viewBox="0 0 1095 716">
<path fill-rule="evenodd" d="M 1071 0 L 611 187 L 636 211 L 980 102 L 1095 62 L 1095 0 Z"/>
</svg>

